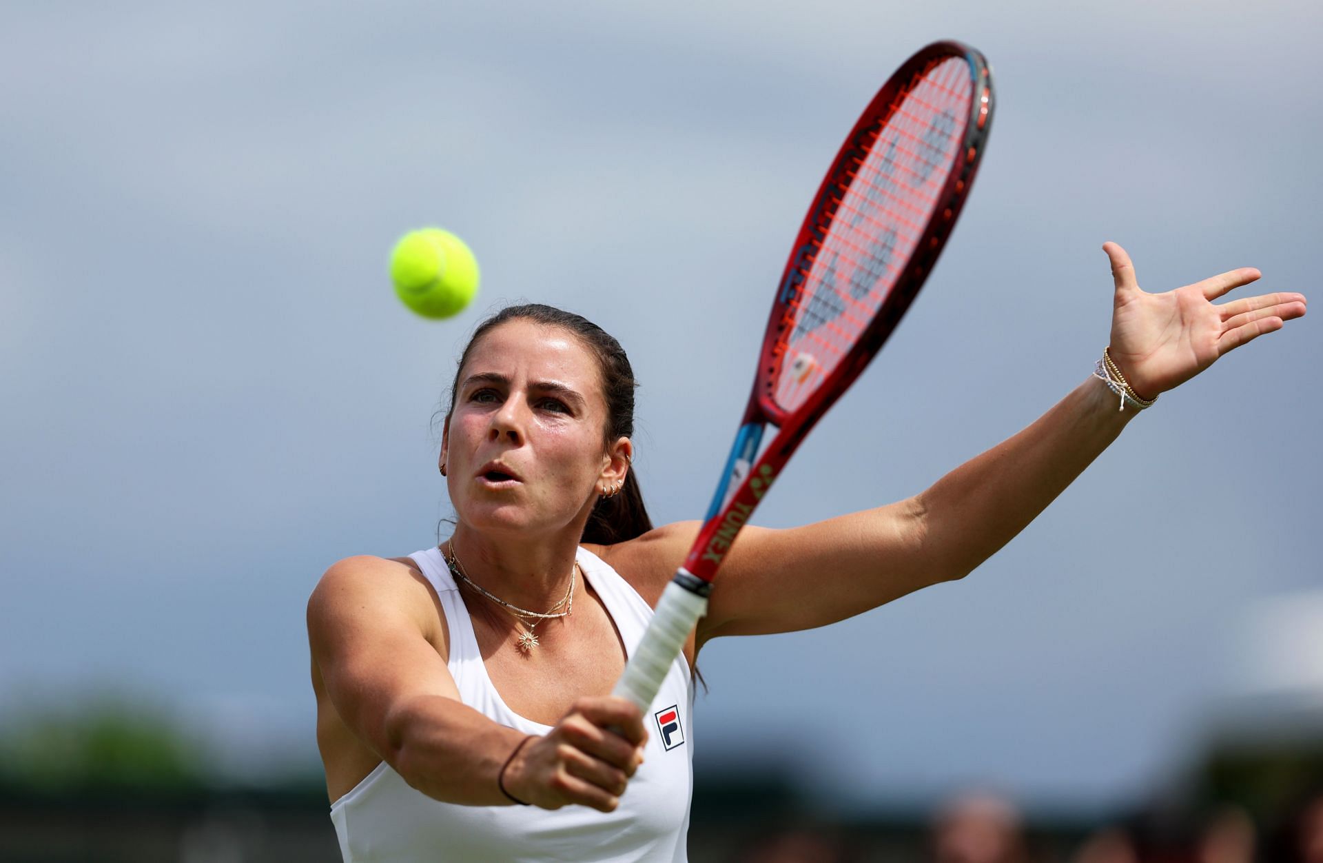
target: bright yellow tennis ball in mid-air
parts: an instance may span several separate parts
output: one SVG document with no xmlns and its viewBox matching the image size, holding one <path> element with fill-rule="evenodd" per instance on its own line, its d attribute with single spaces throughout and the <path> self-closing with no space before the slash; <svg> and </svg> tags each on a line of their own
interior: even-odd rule
<svg viewBox="0 0 1323 863">
<path fill-rule="evenodd" d="M 411 230 L 390 253 L 390 281 L 404 304 L 417 314 L 450 318 L 478 293 L 478 261 L 448 230 Z"/>
</svg>

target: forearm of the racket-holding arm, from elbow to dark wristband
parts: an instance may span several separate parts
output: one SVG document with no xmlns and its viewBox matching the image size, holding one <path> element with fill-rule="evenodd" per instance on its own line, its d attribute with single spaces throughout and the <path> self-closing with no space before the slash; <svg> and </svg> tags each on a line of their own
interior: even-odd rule
<svg viewBox="0 0 1323 863">
<path fill-rule="evenodd" d="M 386 717 L 382 756 L 427 797 L 467 806 L 499 806 L 511 799 L 497 777 L 527 735 L 500 725 L 454 699 L 415 698 Z"/>
</svg>

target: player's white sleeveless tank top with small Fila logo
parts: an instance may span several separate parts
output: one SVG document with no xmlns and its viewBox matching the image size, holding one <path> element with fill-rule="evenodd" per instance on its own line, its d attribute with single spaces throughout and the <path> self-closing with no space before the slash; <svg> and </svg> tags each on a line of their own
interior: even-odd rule
<svg viewBox="0 0 1323 863">
<path fill-rule="evenodd" d="M 410 557 L 437 590 L 450 627 L 446 663 L 464 704 L 501 725 L 545 735 L 542 725 L 515 713 L 501 699 L 478 650 L 464 601 L 437 548 Z M 615 622 L 627 654 L 643 637 L 652 608 L 614 569 L 578 549 L 578 564 Z M 389 860 L 648 860 L 687 859 L 689 797 L 693 786 L 693 682 L 679 657 L 652 707 L 644 762 L 630 780 L 614 813 L 586 806 L 443 803 L 410 788 L 385 761 L 331 805 L 331 821 L 345 863 Z"/>
</svg>

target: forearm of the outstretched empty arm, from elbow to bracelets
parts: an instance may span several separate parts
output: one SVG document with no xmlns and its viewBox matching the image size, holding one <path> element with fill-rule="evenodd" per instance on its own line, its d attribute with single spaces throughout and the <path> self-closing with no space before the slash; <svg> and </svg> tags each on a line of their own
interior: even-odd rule
<svg viewBox="0 0 1323 863">
<path fill-rule="evenodd" d="M 1023 531 L 1135 417 L 1089 377 L 1033 425 L 918 495 L 922 536 L 941 578 L 972 572 Z"/>
</svg>

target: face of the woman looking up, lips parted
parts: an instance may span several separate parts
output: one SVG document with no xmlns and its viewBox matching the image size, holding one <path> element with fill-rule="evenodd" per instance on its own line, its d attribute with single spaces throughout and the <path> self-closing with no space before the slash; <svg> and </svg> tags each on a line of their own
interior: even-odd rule
<svg viewBox="0 0 1323 863">
<path fill-rule="evenodd" d="M 442 445 L 450 499 L 488 532 L 564 529 L 593 506 L 611 459 L 597 359 L 525 319 L 488 331 L 459 369 Z"/>
</svg>

